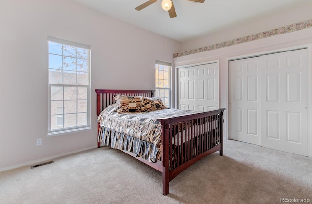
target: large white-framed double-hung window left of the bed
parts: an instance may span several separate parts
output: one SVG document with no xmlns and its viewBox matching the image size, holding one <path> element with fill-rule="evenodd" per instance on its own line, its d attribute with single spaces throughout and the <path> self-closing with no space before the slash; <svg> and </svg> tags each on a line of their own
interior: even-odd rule
<svg viewBox="0 0 312 204">
<path fill-rule="evenodd" d="M 90 46 L 48 37 L 48 135 L 90 128 Z"/>
</svg>

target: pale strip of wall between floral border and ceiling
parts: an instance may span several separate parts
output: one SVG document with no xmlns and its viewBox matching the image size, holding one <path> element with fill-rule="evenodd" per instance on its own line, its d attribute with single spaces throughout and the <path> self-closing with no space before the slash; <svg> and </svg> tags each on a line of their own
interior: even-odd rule
<svg viewBox="0 0 312 204">
<path fill-rule="evenodd" d="M 220 31 L 216 31 L 215 33 L 184 42 L 182 43 L 182 51 L 202 48 L 309 19 L 312 19 L 312 0 L 298 1 L 297 6 L 292 6 L 279 13 L 268 13 L 265 17 L 246 19 L 246 22 L 242 24 L 221 28 Z"/>
</svg>

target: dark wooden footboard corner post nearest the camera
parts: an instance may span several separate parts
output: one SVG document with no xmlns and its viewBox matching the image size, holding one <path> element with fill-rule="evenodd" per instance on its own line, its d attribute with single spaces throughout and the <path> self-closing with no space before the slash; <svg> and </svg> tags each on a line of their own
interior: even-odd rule
<svg viewBox="0 0 312 204">
<path fill-rule="evenodd" d="M 165 121 L 161 122 L 161 160 L 162 160 L 162 194 L 167 195 L 169 193 L 169 128 L 166 125 Z"/>
</svg>

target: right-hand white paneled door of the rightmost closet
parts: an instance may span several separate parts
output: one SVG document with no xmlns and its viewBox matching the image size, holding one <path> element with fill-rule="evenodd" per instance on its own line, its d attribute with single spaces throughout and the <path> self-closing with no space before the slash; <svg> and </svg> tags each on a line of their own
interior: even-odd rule
<svg viewBox="0 0 312 204">
<path fill-rule="evenodd" d="M 307 49 L 262 56 L 261 145 L 308 156 Z"/>
</svg>

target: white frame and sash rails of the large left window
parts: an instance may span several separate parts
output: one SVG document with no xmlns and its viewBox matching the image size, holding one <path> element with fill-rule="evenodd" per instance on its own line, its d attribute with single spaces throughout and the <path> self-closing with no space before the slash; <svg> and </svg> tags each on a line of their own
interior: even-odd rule
<svg viewBox="0 0 312 204">
<path fill-rule="evenodd" d="M 47 44 L 48 44 L 48 59 L 49 59 L 49 42 L 55 42 L 59 44 L 64 44 L 64 45 L 69 45 L 69 46 L 74 46 L 78 48 L 84 48 L 89 50 L 89 59 L 88 59 L 88 85 L 72 85 L 72 84 L 50 84 L 48 81 L 48 134 L 47 136 L 57 136 L 57 135 L 63 135 L 63 134 L 68 134 L 68 133 L 73 133 L 77 131 L 85 131 L 85 130 L 91 130 L 91 49 L 89 45 L 81 44 L 81 43 L 76 43 L 68 40 L 63 40 L 55 37 L 48 36 Z M 48 63 L 48 72 L 49 72 L 49 63 Z M 81 125 L 78 126 L 77 124 L 77 119 L 76 119 L 76 126 L 74 127 L 68 127 L 68 128 L 59 128 L 59 129 L 54 129 L 51 130 L 51 87 L 59 86 L 59 87 L 86 87 L 87 89 L 87 124 L 86 125 Z M 62 100 L 63 102 L 65 101 L 64 98 Z M 78 113 L 77 107 L 76 107 L 76 114 Z M 63 112 L 63 123 L 65 122 L 65 117 L 66 114 Z"/>
</svg>

